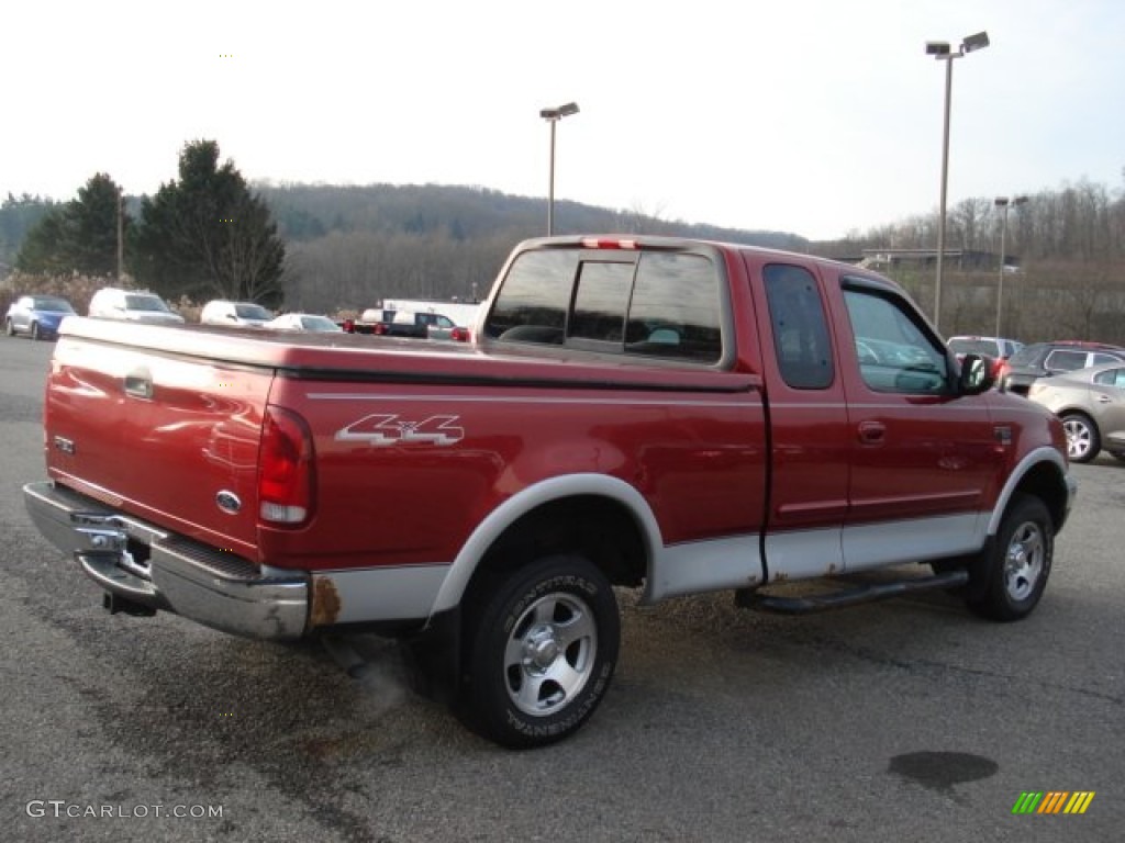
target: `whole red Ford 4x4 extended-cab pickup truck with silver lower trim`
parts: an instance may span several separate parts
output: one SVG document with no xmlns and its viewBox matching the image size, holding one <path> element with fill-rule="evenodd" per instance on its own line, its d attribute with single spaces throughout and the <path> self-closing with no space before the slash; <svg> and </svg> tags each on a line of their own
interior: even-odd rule
<svg viewBox="0 0 1125 843">
<path fill-rule="evenodd" d="M 474 337 L 68 319 L 29 513 L 110 611 L 402 636 L 511 746 L 593 714 L 614 587 L 794 613 L 960 589 L 1001 620 L 1043 593 L 1074 492 L 1058 419 L 866 270 L 528 241 Z"/>
</svg>

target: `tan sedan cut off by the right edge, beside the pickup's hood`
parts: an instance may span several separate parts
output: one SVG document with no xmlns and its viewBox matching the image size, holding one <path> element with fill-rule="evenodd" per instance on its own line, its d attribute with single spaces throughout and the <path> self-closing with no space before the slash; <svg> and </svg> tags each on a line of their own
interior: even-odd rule
<svg viewBox="0 0 1125 843">
<path fill-rule="evenodd" d="M 1071 462 L 1090 462 L 1102 448 L 1125 461 L 1125 365 L 1122 363 L 1037 380 L 1027 397 L 1062 419 Z"/>
</svg>

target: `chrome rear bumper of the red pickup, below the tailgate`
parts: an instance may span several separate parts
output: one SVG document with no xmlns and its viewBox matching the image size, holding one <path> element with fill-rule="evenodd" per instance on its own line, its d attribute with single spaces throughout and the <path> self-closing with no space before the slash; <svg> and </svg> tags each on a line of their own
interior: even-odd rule
<svg viewBox="0 0 1125 843">
<path fill-rule="evenodd" d="M 39 532 L 108 593 L 251 638 L 305 634 L 308 578 L 169 534 L 51 481 L 24 487 Z"/>
</svg>

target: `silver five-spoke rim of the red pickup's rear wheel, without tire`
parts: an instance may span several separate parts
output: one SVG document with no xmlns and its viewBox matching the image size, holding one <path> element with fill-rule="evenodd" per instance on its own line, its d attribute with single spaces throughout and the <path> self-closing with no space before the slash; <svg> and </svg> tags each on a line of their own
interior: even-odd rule
<svg viewBox="0 0 1125 843">
<path fill-rule="evenodd" d="M 547 595 L 520 615 L 504 649 L 504 685 L 524 714 L 546 717 L 565 708 L 590 681 L 597 625 L 584 600 Z"/>
</svg>

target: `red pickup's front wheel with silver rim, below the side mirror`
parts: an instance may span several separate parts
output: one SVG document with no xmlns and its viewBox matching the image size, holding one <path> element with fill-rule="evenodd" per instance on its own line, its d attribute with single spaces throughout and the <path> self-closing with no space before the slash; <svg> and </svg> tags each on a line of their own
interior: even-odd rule
<svg viewBox="0 0 1125 843">
<path fill-rule="evenodd" d="M 969 608 L 993 620 L 1027 617 L 1043 597 L 1054 556 L 1054 522 L 1043 501 L 1027 496 L 1012 501 L 991 547 L 981 571 L 984 588 L 968 600 Z"/>
</svg>

